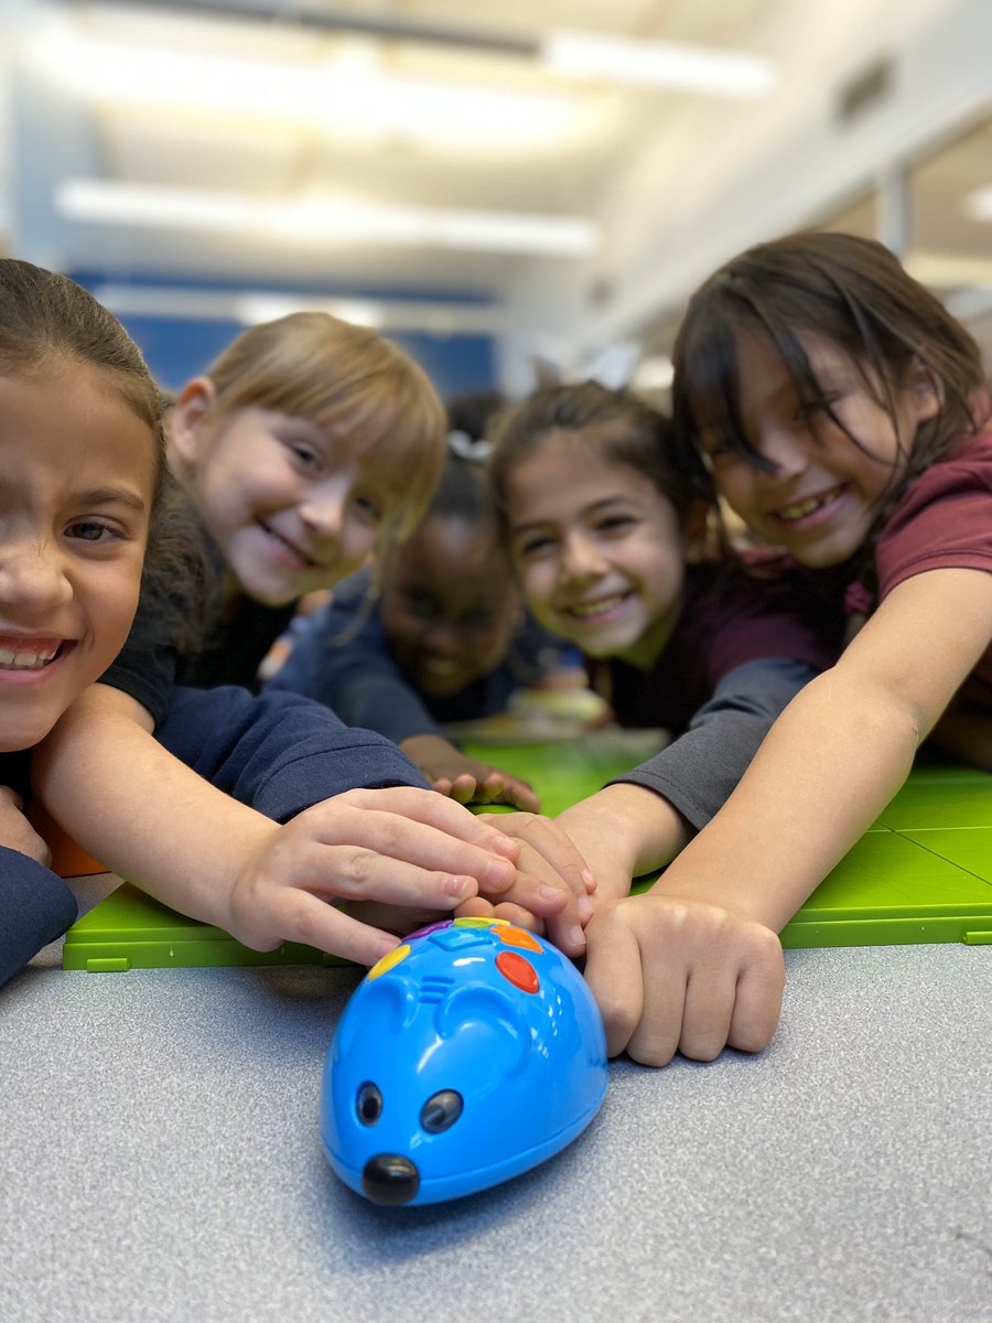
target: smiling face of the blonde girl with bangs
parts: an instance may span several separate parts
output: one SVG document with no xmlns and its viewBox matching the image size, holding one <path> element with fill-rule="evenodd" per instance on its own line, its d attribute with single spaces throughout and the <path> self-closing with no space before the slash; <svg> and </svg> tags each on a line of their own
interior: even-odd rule
<svg viewBox="0 0 992 1323">
<path fill-rule="evenodd" d="M 171 454 L 249 597 L 292 602 L 340 582 L 374 550 L 402 490 L 381 443 L 385 413 L 356 427 L 258 407 L 201 411 L 188 423 L 183 407 L 169 425 Z"/>
</svg>

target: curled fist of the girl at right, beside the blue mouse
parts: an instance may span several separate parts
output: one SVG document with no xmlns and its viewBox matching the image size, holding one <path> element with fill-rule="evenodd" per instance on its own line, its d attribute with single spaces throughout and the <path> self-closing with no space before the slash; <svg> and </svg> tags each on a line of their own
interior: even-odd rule
<svg viewBox="0 0 992 1323">
<path fill-rule="evenodd" d="M 611 1057 L 712 1061 L 725 1046 L 759 1052 L 775 1032 L 786 974 L 762 923 L 652 890 L 598 910 L 586 937 Z"/>
</svg>

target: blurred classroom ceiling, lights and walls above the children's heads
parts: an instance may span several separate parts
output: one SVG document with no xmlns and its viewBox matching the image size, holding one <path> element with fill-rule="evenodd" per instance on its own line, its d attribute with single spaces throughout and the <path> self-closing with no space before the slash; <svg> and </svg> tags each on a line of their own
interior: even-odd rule
<svg viewBox="0 0 992 1323">
<path fill-rule="evenodd" d="M 881 238 L 992 348 L 988 0 L 0 0 L 0 251 L 167 389 L 245 324 L 374 324 L 442 394 L 664 402 L 741 247 Z"/>
</svg>

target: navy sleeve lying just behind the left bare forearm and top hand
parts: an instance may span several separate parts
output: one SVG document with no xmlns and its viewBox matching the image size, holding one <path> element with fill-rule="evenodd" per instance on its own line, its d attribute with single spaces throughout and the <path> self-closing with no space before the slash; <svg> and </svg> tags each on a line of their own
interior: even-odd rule
<svg viewBox="0 0 992 1323">
<path fill-rule="evenodd" d="M 177 688 L 156 738 L 218 790 L 287 819 L 345 790 L 430 789 L 395 745 L 296 693 Z"/>
</svg>

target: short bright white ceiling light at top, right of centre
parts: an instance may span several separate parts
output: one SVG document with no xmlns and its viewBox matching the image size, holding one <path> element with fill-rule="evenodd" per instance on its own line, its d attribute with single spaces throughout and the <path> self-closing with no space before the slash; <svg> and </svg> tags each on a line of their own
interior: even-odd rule
<svg viewBox="0 0 992 1323">
<path fill-rule="evenodd" d="M 709 93 L 763 97 L 775 85 L 767 60 L 667 41 L 627 41 L 591 32 L 552 32 L 541 44 L 552 67 L 581 78 Z"/>
</svg>

